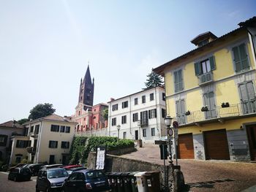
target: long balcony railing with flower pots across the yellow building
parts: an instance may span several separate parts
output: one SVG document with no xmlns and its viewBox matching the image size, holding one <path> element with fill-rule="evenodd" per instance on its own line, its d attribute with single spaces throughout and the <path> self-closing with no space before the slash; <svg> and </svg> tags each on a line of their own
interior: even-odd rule
<svg viewBox="0 0 256 192">
<path fill-rule="evenodd" d="M 187 125 L 191 123 L 203 123 L 212 120 L 232 119 L 242 117 L 244 115 L 256 115 L 256 100 L 246 101 L 240 104 L 230 104 L 228 107 L 217 106 L 207 111 L 189 111 L 178 115 L 174 120 L 178 121 L 180 125 Z"/>
</svg>

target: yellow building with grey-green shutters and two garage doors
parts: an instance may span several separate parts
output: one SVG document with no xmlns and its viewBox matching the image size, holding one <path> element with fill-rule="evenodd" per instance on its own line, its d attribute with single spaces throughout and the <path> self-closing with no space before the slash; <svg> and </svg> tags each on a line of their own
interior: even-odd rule
<svg viewBox="0 0 256 192">
<path fill-rule="evenodd" d="M 158 66 L 167 115 L 177 120 L 178 158 L 256 160 L 256 17 Z"/>
</svg>

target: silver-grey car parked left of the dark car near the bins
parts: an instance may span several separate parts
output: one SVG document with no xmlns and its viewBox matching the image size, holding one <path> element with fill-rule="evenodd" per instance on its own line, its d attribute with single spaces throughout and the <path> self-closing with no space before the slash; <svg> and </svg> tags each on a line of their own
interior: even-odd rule
<svg viewBox="0 0 256 192">
<path fill-rule="evenodd" d="M 42 168 L 37 175 L 36 191 L 59 190 L 68 175 L 64 168 Z"/>
</svg>

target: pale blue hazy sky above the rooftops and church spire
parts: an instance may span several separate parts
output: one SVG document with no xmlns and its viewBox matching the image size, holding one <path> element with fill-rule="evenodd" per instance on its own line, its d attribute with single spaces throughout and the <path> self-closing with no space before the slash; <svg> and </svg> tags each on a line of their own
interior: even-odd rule
<svg viewBox="0 0 256 192">
<path fill-rule="evenodd" d="M 89 64 L 94 104 L 145 88 L 152 68 L 256 16 L 255 0 L 0 0 L 0 123 L 39 103 L 72 115 Z"/>
</svg>

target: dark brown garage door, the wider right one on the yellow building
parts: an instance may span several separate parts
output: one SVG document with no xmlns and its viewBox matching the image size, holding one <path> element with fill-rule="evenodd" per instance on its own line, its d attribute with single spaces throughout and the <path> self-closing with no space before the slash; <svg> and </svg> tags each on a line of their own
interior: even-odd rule
<svg viewBox="0 0 256 192">
<path fill-rule="evenodd" d="M 225 129 L 204 131 L 203 136 L 206 147 L 206 159 L 230 159 Z"/>
</svg>

